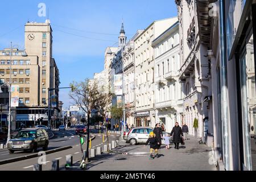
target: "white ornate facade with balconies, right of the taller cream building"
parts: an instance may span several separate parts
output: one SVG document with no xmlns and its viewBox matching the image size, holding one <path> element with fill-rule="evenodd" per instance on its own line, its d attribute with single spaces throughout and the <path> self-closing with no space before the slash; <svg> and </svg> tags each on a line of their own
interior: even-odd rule
<svg viewBox="0 0 256 182">
<path fill-rule="evenodd" d="M 155 50 L 155 118 L 171 132 L 183 115 L 179 82 L 179 22 L 172 24 L 152 42 Z"/>
</svg>

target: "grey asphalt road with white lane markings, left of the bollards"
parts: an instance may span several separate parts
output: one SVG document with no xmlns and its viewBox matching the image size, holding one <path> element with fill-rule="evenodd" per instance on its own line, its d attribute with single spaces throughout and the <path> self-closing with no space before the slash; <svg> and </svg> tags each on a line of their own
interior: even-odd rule
<svg viewBox="0 0 256 182">
<path fill-rule="evenodd" d="M 96 138 L 92 140 L 92 148 L 96 147 L 102 147 L 106 143 L 106 137 L 105 137 L 105 142 L 102 141 L 102 134 L 97 134 L 95 131 L 92 130 L 92 135 L 94 135 Z M 119 138 L 119 135 L 115 134 L 110 134 L 109 140 L 110 142 L 112 140 L 117 140 Z M 85 139 L 86 141 L 86 139 Z M 73 162 L 77 160 L 81 160 L 82 154 L 81 154 L 81 148 L 79 144 L 79 136 L 75 135 L 75 131 L 73 130 L 68 130 L 68 131 L 56 131 L 55 132 L 55 137 L 50 140 L 51 146 L 49 146 L 49 150 L 56 148 L 56 147 L 63 147 L 63 146 L 72 146 L 72 148 L 64 151 L 59 151 L 55 152 L 52 154 L 46 155 L 45 160 L 40 160 L 40 157 L 37 158 L 32 158 L 32 159 L 27 159 L 27 160 L 21 160 L 19 162 L 14 162 L 14 163 L 9 163 L 9 164 L 3 164 L 0 166 L 0 171 L 32 171 L 33 170 L 33 165 L 38 163 L 38 161 L 43 162 L 43 170 L 51 170 L 51 161 L 54 159 L 59 159 L 60 160 L 60 167 L 64 167 L 66 163 L 66 155 L 73 155 Z M 84 150 L 86 148 L 86 143 L 84 144 Z M 3 155 L 6 154 L 6 152 L 0 153 L 0 157 L 3 159 L 6 157 L 14 158 L 15 156 L 22 156 L 22 155 L 27 155 L 26 152 L 19 152 L 17 154 L 11 154 L 9 155 Z M 2 155 L 2 156 L 1 156 Z"/>
</svg>

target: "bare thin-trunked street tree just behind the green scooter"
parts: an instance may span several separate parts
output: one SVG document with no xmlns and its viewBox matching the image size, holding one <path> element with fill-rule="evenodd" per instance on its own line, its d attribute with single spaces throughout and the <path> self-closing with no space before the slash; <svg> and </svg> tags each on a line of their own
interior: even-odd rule
<svg viewBox="0 0 256 182">
<path fill-rule="evenodd" d="M 75 105 L 81 107 L 87 114 L 87 145 L 85 161 L 89 162 L 89 138 L 90 138 L 90 114 L 93 109 L 96 109 L 97 102 L 97 83 L 94 80 L 86 79 L 81 82 L 72 82 L 72 92 L 69 93 L 69 97 L 73 100 Z"/>
</svg>

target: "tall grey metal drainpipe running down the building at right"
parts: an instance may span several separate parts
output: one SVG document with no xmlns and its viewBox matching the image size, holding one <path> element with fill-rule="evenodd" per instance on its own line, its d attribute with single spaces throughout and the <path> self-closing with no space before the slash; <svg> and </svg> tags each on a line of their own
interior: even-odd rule
<svg viewBox="0 0 256 182">
<path fill-rule="evenodd" d="M 220 0 L 220 68 L 221 68 L 221 107 L 222 107 L 222 123 L 224 133 L 224 166 L 230 171 L 229 159 L 229 122 L 228 122 L 228 80 L 227 80 L 227 59 L 226 59 L 226 25 L 225 25 L 225 1 Z"/>
</svg>

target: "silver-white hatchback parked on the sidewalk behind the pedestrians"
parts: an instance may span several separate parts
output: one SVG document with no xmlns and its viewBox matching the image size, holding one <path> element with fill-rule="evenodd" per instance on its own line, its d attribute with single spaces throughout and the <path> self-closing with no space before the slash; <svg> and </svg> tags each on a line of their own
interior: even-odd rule
<svg viewBox="0 0 256 182">
<path fill-rule="evenodd" d="M 132 145 L 146 143 L 151 131 L 152 127 L 134 127 L 127 133 L 126 140 Z"/>
</svg>

